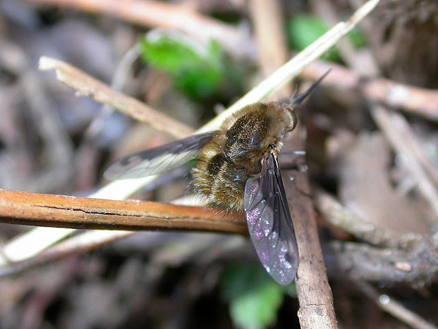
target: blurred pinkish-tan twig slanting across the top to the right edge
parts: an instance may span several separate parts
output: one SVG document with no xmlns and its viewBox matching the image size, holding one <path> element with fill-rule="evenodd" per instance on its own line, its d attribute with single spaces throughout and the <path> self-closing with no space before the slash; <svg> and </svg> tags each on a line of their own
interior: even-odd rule
<svg viewBox="0 0 438 329">
<path fill-rule="evenodd" d="M 120 19 L 140 23 L 149 27 L 168 27 L 188 33 L 190 36 L 209 40 L 214 38 L 224 46 L 229 53 L 249 60 L 257 60 L 256 46 L 248 36 L 242 36 L 234 27 L 210 19 L 196 12 L 185 10 L 178 5 L 158 3 L 155 1 L 117 1 L 117 0 L 28 0 L 33 3 L 60 5 L 86 12 L 112 14 Z M 201 33 L 200 33 L 201 32 Z M 248 42 L 248 45 L 242 44 Z M 327 71 L 322 62 L 314 62 L 302 71 L 301 76 L 316 80 Z M 438 91 L 417 88 L 387 80 L 384 78 L 362 80 L 361 75 L 353 73 L 344 66 L 333 65 L 330 77 L 324 84 L 334 83 L 344 88 L 355 88 L 372 101 L 380 101 L 390 106 L 421 115 L 433 121 L 438 121 Z M 324 67 L 321 67 L 324 66 Z M 315 71 L 315 68 L 318 68 Z M 337 71 L 337 69 L 341 71 Z M 331 82 L 330 82 L 331 81 Z M 359 88 L 360 87 L 360 88 Z"/>
</svg>

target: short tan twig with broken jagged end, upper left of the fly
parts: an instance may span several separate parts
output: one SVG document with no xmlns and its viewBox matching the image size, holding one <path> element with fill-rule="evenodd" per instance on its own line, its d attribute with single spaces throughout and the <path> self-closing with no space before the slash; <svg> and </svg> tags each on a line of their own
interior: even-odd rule
<svg viewBox="0 0 438 329">
<path fill-rule="evenodd" d="M 77 95 L 92 97 L 95 101 L 105 103 L 120 112 L 149 124 L 155 130 L 170 136 L 181 138 L 192 134 L 192 130 L 150 106 L 129 97 L 107 84 L 91 77 L 74 66 L 53 58 L 40 58 L 40 70 L 55 70 L 57 80 L 77 90 Z"/>
</svg>

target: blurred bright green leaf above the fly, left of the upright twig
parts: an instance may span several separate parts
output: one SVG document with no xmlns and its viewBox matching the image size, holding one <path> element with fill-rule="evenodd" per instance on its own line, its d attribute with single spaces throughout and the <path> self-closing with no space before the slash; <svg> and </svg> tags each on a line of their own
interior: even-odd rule
<svg viewBox="0 0 438 329">
<path fill-rule="evenodd" d="M 142 48 L 144 61 L 170 73 L 175 86 L 192 98 L 211 96 L 224 80 L 222 49 L 217 42 L 202 47 L 182 38 L 149 34 L 142 39 Z"/>
</svg>

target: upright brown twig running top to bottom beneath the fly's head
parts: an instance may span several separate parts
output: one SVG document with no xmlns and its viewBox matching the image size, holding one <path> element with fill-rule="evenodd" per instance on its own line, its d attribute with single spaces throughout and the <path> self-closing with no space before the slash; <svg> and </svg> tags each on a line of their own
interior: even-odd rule
<svg viewBox="0 0 438 329">
<path fill-rule="evenodd" d="M 283 65 L 287 59 L 280 8 L 280 1 L 253 0 L 251 2 L 256 38 L 260 43 L 262 71 L 266 75 Z M 283 97 L 290 97 L 290 88 L 289 90 L 283 88 L 281 93 Z M 297 148 L 294 149 L 304 149 L 303 141 L 298 138 L 295 144 Z M 296 186 L 300 191 L 309 191 L 306 173 L 300 173 Z M 291 213 L 295 215 L 293 220 L 300 256 L 296 279 L 296 291 L 300 303 L 298 310 L 300 326 L 301 328 L 337 328 L 333 294 L 324 267 L 313 204 L 311 199 L 294 194 L 294 197 L 289 197 L 288 202 Z M 303 237 L 305 239 L 302 239 Z"/>
</svg>

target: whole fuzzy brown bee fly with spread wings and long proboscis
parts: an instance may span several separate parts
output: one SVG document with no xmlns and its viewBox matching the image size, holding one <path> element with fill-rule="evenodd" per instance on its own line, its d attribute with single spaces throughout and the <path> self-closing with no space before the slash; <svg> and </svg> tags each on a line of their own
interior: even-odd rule
<svg viewBox="0 0 438 329">
<path fill-rule="evenodd" d="M 296 98 L 245 106 L 219 130 L 127 156 L 103 175 L 109 180 L 140 178 L 198 156 L 192 169 L 196 191 L 211 204 L 244 210 L 261 264 L 276 282 L 290 284 L 298 269 L 298 247 L 277 157 L 296 126 L 296 106 L 327 73 Z"/>
</svg>

